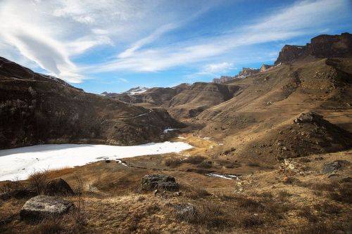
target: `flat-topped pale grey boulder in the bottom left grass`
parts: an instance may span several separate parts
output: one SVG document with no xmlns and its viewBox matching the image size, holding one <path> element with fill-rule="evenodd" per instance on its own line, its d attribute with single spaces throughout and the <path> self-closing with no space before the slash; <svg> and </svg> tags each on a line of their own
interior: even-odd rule
<svg viewBox="0 0 352 234">
<path fill-rule="evenodd" d="M 39 195 L 27 200 L 20 210 L 20 219 L 36 220 L 60 216 L 73 209 L 74 204 L 60 197 Z"/>
</svg>

